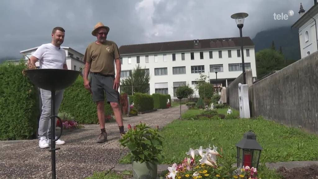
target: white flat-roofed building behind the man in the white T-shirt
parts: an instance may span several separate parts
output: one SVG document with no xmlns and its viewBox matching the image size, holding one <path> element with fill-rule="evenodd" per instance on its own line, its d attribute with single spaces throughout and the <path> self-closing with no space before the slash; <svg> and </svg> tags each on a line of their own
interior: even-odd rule
<svg viewBox="0 0 318 179">
<path fill-rule="evenodd" d="M 38 46 L 39 47 L 39 46 Z M 30 49 L 26 49 L 26 50 L 22 50 L 20 51 L 20 53 L 23 53 L 25 55 L 27 55 L 28 57 L 30 57 L 37 49 L 38 47 L 34 47 L 34 48 L 30 48 Z M 79 71 L 80 68 L 84 68 L 85 67 L 85 63 L 84 63 L 84 55 L 79 53 L 78 51 L 70 48 L 70 47 L 61 47 L 65 50 L 66 53 L 66 64 L 67 64 L 67 68 L 69 70 L 77 70 Z M 28 60 L 27 57 L 23 56 L 24 60 Z M 17 60 L 16 62 L 18 62 L 20 60 Z M 10 62 L 10 61 L 9 61 Z M 11 61 L 14 62 L 14 61 Z M 35 65 L 39 68 L 40 64 L 37 61 L 35 63 Z M 82 74 L 84 74 L 84 70 L 82 70 Z"/>
</svg>

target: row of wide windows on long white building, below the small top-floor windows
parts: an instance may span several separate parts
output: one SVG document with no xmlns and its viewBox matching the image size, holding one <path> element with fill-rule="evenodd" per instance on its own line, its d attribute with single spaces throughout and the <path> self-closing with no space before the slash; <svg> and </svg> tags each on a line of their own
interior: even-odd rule
<svg viewBox="0 0 318 179">
<path fill-rule="evenodd" d="M 245 70 L 251 69 L 251 63 L 245 63 Z M 147 70 L 147 74 L 149 75 L 149 69 Z M 243 65 L 242 63 L 231 63 L 229 64 L 229 71 L 242 71 Z M 204 73 L 204 65 L 191 66 L 191 73 Z M 210 72 L 223 72 L 223 64 L 210 65 Z M 173 75 L 181 75 L 186 74 L 186 67 L 172 67 Z M 131 70 L 122 70 L 121 77 L 125 78 L 131 75 Z M 168 75 L 168 68 L 155 68 L 155 76 L 160 75 Z"/>
</svg>

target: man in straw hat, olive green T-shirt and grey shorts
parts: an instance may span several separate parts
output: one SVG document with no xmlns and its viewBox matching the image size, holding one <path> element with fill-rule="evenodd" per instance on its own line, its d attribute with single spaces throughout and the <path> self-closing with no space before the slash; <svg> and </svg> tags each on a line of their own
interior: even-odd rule
<svg viewBox="0 0 318 179">
<path fill-rule="evenodd" d="M 105 130 L 105 112 L 104 101 L 105 95 L 107 102 L 113 108 L 116 122 L 119 126 L 120 134 L 124 134 L 124 126 L 122 122 L 122 114 L 119 106 L 119 83 L 121 73 L 121 62 L 118 47 L 115 42 L 106 40 L 109 27 L 102 23 L 97 23 L 92 32 L 97 37 L 86 48 L 84 55 L 85 71 L 84 86 L 92 93 L 93 101 L 97 105 L 97 116 L 100 124 L 101 133 L 97 139 L 97 143 L 107 141 L 107 133 Z M 114 70 L 114 61 L 116 64 L 116 77 Z M 88 73 L 91 74 L 91 80 L 88 80 Z"/>
</svg>

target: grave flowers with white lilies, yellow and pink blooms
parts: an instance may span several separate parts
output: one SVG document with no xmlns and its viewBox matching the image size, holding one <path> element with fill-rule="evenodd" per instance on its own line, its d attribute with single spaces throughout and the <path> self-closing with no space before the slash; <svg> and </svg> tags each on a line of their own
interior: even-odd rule
<svg viewBox="0 0 318 179">
<path fill-rule="evenodd" d="M 168 167 L 169 173 L 166 179 L 259 179 L 256 168 L 232 167 L 234 162 L 229 160 L 217 163 L 217 159 L 223 157 L 218 153 L 217 148 L 215 146 L 213 149 L 210 146 L 206 149 L 202 146 L 195 150 L 190 148 L 186 153 L 190 157 L 184 158 L 180 164 L 174 163 Z M 196 156 L 199 157 L 196 159 Z"/>
</svg>

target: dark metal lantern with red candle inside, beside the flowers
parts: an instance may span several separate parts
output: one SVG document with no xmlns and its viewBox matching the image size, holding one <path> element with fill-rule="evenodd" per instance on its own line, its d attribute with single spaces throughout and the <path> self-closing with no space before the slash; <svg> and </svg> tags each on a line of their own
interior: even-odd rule
<svg viewBox="0 0 318 179">
<path fill-rule="evenodd" d="M 237 167 L 249 166 L 251 168 L 258 168 L 260 153 L 263 148 L 256 141 L 254 132 L 246 132 L 243 139 L 236 144 L 236 147 Z"/>
</svg>

